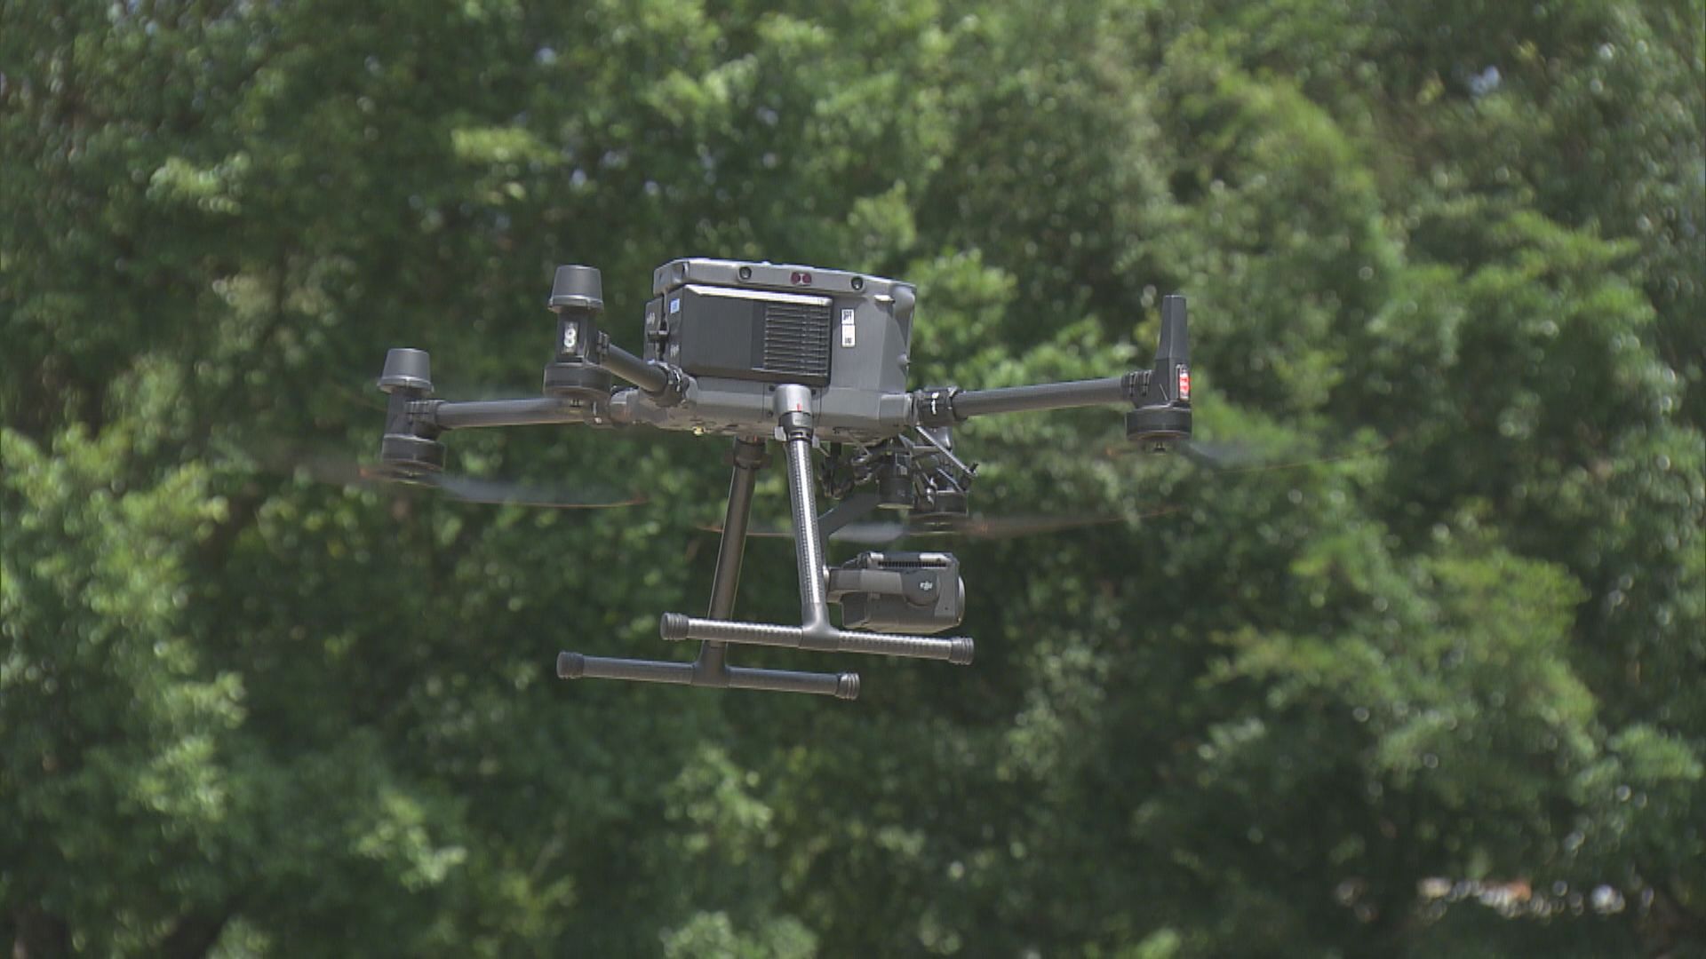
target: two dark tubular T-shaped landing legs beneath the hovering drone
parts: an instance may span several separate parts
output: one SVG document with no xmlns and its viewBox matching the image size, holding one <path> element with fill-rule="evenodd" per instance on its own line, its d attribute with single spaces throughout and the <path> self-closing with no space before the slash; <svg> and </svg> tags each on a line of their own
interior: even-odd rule
<svg viewBox="0 0 1706 959">
<path fill-rule="evenodd" d="M 728 512 L 717 551 L 711 578 L 711 607 L 706 618 L 665 613 L 659 631 L 665 640 L 699 640 L 696 662 L 660 662 L 609 659 L 563 652 L 556 657 L 556 674 L 563 679 L 633 679 L 641 683 L 676 683 L 682 686 L 720 686 L 730 689 L 771 689 L 778 693 L 815 693 L 853 700 L 858 696 L 856 672 L 792 672 L 783 669 L 742 669 L 727 664 L 725 643 L 790 647 L 817 652 L 860 652 L 942 659 L 959 665 L 972 659 L 972 642 L 964 636 L 901 636 L 839 630 L 829 623 L 824 541 L 819 529 L 812 490 L 812 413 L 810 391 L 804 386 L 776 389 L 776 415 L 781 421 L 788 454 L 788 498 L 793 507 L 793 541 L 800 573 L 800 626 L 771 623 L 735 623 L 735 589 L 746 546 L 747 519 L 752 510 L 752 485 L 764 462 L 763 440 L 735 440 L 734 480 L 728 485 Z"/>
</svg>

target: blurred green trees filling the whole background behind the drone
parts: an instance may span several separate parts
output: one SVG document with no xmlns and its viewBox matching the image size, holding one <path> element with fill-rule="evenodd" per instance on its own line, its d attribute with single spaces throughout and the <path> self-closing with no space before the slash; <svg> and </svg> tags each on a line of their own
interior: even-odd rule
<svg viewBox="0 0 1706 959">
<path fill-rule="evenodd" d="M 0 0 L 0 942 L 1706 954 L 1703 82 L 1694 0 Z M 558 683 L 703 607 L 723 442 L 328 464 L 387 346 L 532 394 L 554 264 L 636 346 L 688 254 L 918 282 L 920 386 L 1184 292 L 1235 462 L 979 421 L 974 505 L 1123 522 L 959 546 L 974 667 Z"/>
</svg>

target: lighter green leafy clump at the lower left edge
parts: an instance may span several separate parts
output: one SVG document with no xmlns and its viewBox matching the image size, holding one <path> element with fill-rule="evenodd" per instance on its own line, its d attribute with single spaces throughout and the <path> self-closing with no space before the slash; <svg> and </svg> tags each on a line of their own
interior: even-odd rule
<svg viewBox="0 0 1706 959">
<path fill-rule="evenodd" d="M 201 669 L 183 623 L 186 532 L 217 503 L 198 464 L 126 488 L 119 430 L 73 427 L 48 450 L 10 430 L 0 442 L 5 892 L 94 950 L 125 950 L 162 910 L 222 887 L 206 857 L 234 802 L 218 753 L 244 718 L 242 677 Z"/>
</svg>

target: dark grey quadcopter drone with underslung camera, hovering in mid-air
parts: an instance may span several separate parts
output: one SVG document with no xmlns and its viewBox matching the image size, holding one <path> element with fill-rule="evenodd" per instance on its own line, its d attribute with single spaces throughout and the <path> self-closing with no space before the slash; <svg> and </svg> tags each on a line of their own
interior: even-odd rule
<svg viewBox="0 0 1706 959">
<path fill-rule="evenodd" d="M 943 551 L 865 551 L 829 567 L 824 539 L 872 510 L 906 510 L 926 529 L 966 520 L 976 466 L 954 452 L 972 416 L 1129 404 L 1126 439 L 1162 452 L 1191 435 L 1186 300 L 1162 299 L 1153 363 L 1121 375 L 998 389 L 908 389 L 918 288 L 855 271 L 732 259 L 674 259 L 652 275 L 645 348 L 630 353 L 599 321 L 594 266 L 558 266 L 546 305 L 554 358 L 541 398 L 445 401 L 425 350 L 386 355 L 380 464 L 387 478 L 444 469 L 447 430 L 580 423 L 734 439 L 734 478 L 705 616 L 664 613 L 664 640 L 699 643 L 693 662 L 560 652 L 561 679 L 628 679 L 855 700 L 856 672 L 730 665 L 730 645 L 972 660 L 969 636 L 937 636 L 966 614 L 959 560 Z M 618 379 L 623 386 L 618 386 Z M 752 490 L 778 442 L 786 462 L 800 625 L 732 619 Z M 822 461 L 814 468 L 814 454 Z M 819 515 L 817 491 L 836 505 Z M 829 606 L 841 607 L 841 625 Z"/>
</svg>

